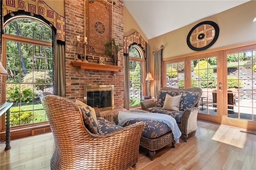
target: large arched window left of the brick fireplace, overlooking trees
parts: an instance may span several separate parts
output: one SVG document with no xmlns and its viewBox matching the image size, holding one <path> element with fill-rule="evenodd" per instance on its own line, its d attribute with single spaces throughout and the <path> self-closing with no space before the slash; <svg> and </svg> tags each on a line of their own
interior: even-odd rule
<svg viewBox="0 0 256 170">
<path fill-rule="evenodd" d="M 48 121 L 39 95 L 53 92 L 52 30 L 40 21 L 16 18 L 5 26 L 2 43 L 10 73 L 3 91 L 5 100 L 14 102 L 11 125 Z"/>
</svg>

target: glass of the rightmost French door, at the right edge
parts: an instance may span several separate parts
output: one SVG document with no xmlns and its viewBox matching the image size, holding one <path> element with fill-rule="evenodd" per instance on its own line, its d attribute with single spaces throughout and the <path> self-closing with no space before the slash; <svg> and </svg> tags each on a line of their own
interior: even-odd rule
<svg viewBox="0 0 256 170">
<path fill-rule="evenodd" d="M 228 68 L 228 117 L 256 121 L 253 112 L 256 108 L 255 51 L 228 54 L 226 57 Z"/>
</svg>

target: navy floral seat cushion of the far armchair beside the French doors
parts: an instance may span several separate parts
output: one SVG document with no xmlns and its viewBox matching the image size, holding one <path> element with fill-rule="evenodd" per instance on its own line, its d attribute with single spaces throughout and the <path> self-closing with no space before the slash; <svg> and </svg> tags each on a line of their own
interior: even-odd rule
<svg viewBox="0 0 256 170">
<path fill-rule="evenodd" d="M 181 122 L 181 116 L 183 113 L 183 111 L 172 111 L 172 110 L 163 109 L 162 107 L 150 107 L 148 108 L 148 111 L 153 113 L 162 113 L 162 114 L 170 115 L 176 120 L 177 123 Z"/>
</svg>

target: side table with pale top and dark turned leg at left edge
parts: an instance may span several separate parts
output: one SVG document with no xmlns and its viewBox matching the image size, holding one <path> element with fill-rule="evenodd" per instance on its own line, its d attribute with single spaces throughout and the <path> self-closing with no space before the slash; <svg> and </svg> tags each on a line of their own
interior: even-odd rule
<svg viewBox="0 0 256 170">
<path fill-rule="evenodd" d="M 12 107 L 13 102 L 5 102 L 5 103 L 0 103 L 0 116 L 4 113 L 6 113 L 6 131 L 5 131 L 5 148 L 4 150 L 11 149 L 10 146 L 10 108 Z"/>
</svg>

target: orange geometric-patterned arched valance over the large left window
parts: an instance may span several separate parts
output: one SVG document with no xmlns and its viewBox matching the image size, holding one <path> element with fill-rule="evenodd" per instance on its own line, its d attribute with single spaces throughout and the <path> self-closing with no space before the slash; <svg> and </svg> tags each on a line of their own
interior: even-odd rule
<svg viewBox="0 0 256 170">
<path fill-rule="evenodd" d="M 38 18 L 56 32 L 58 43 L 65 44 L 65 18 L 57 14 L 43 0 L 2 0 L 2 28 L 4 22 L 17 15 Z"/>
</svg>

